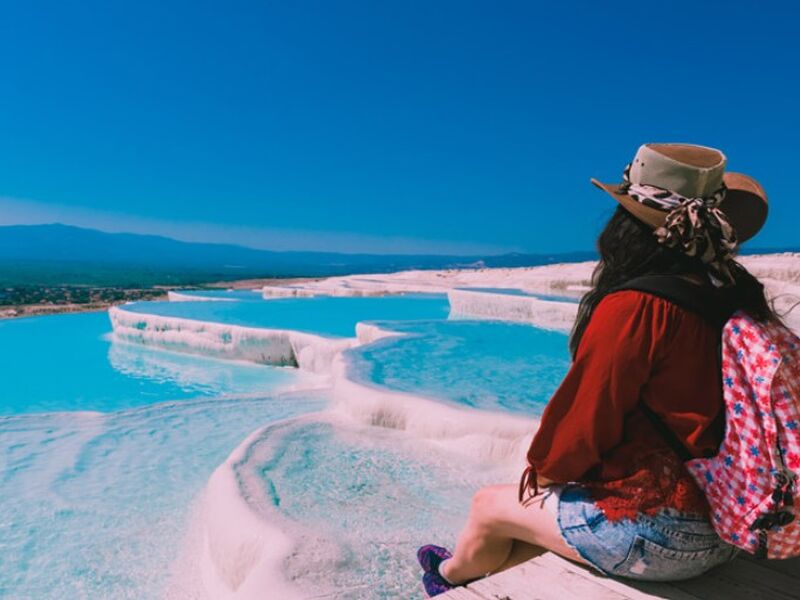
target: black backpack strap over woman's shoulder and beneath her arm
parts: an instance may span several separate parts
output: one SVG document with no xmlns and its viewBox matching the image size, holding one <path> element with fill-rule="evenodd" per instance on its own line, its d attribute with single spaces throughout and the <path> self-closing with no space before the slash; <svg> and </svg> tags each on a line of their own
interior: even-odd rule
<svg viewBox="0 0 800 600">
<path fill-rule="evenodd" d="M 626 281 L 609 293 L 632 290 L 645 292 L 680 306 L 684 310 L 700 316 L 708 324 L 722 331 L 725 322 L 733 311 L 729 303 L 709 285 L 699 285 L 677 275 L 644 275 Z M 675 432 L 664 423 L 652 408 L 644 402 L 639 403 L 647 419 L 652 423 L 661 438 L 680 457 L 683 462 L 692 460 L 694 456 L 681 442 Z"/>
</svg>

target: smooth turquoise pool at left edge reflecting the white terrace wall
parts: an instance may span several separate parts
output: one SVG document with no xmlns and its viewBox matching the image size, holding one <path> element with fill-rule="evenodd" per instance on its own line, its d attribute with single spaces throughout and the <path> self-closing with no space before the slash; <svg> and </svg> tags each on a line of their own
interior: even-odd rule
<svg viewBox="0 0 800 600">
<path fill-rule="evenodd" d="M 247 394 L 297 373 L 112 343 L 106 313 L 0 321 L 0 415 L 111 412 L 164 400 Z"/>
</svg>

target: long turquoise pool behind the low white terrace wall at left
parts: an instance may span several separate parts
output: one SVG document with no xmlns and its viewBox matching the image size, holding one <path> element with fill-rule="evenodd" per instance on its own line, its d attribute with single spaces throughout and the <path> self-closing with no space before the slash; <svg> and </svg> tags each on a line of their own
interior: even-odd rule
<svg viewBox="0 0 800 600">
<path fill-rule="evenodd" d="M 134 302 L 126 311 L 245 327 L 291 329 L 333 337 L 355 336 L 356 323 L 372 320 L 444 319 L 444 294 L 372 298 L 280 298 L 264 302 Z"/>
</svg>

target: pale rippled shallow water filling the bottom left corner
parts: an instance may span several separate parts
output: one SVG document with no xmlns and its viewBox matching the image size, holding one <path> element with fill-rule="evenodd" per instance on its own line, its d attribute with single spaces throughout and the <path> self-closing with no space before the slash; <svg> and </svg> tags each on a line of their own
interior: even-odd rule
<svg viewBox="0 0 800 600">
<path fill-rule="evenodd" d="M 289 394 L 0 418 L 0 597 L 162 597 L 217 465 L 255 424 L 323 402 Z"/>
</svg>

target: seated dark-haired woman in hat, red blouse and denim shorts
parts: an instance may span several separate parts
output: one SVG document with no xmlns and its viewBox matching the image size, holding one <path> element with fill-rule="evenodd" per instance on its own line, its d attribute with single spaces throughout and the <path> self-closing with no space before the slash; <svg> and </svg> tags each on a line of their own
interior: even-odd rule
<svg viewBox="0 0 800 600">
<path fill-rule="evenodd" d="M 647 144 L 622 184 L 592 180 L 620 205 L 598 240 L 572 366 L 542 415 L 519 488 L 478 491 L 453 555 L 420 548 L 430 596 L 545 550 L 642 580 L 693 577 L 734 556 L 663 430 L 685 454 L 715 454 L 725 416 L 721 324 L 737 309 L 775 318 L 761 284 L 733 260 L 738 241 L 763 225 L 766 196 L 724 168 L 718 150 Z M 645 275 L 689 286 L 701 308 L 626 289 Z"/>
</svg>

